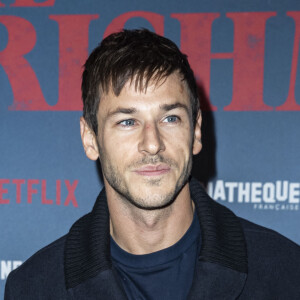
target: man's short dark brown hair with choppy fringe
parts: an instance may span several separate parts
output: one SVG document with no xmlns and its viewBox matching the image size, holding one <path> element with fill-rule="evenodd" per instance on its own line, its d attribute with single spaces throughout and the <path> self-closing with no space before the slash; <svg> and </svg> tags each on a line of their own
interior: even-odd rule
<svg viewBox="0 0 300 300">
<path fill-rule="evenodd" d="M 112 90 L 118 96 L 129 80 L 134 81 L 136 90 L 144 91 L 150 81 L 158 83 L 175 71 L 187 83 L 195 124 L 200 105 L 187 56 L 172 41 L 147 29 L 113 33 L 93 50 L 84 65 L 83 117 L 97 134 L 97 112 L 102 94 Z"/>
</svg>

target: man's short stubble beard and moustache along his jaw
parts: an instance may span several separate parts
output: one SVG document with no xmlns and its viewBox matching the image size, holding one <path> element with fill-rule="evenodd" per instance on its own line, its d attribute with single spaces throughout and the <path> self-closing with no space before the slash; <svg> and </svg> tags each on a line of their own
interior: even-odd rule
<svg viewBox="0 0 300 300">
<path fill-rule="evenodd" d="M 104 151 L 99 147 L 101 165 L 102 165 L 102 173 L 109 185 L 113 188 L 113 190 L 119 195 L 120 199 L 123 201 L 130 203 L 131 205 L 143 209 L 143 210 L 159 210 L 170 206 L 177 195 L 181 191 L 181 189 L 187 183 L 189 176 L 191 174 L 192 169 L 192 155 L 190 155 L 188 161 L 184 164 L 182 172 L 171 191 L 168 193 L 161 193 L 156 195 L 147 195 L 146 197 L 139 197 L 137 195 L 133 195 L 130 192 L 129 187 L 127 186 L 124 177 L 122 176 L 120 170 L 118 170 L 117 166 L 114 166 L 111 161 L 106 157 Z M 142 167 L 147 164 L 157 164 L 157 163 L 165 163 L 171 169 L 179 169 L 178 163 L 172 159 L 165 158 L 162 155 L 155 155 L 152 157 L 143 157 L 141 160 L 136 161 L 130 166 L 126 167 L 126 170 L 133 170 L 138 167 Z M 157 186 L 159 187 L 161 181 L 163 179 L 146 179 L 145 184 L 149 186 Z M 134 185 L 134 182 L 130 182 L 129 184 Z"/>
</svg>

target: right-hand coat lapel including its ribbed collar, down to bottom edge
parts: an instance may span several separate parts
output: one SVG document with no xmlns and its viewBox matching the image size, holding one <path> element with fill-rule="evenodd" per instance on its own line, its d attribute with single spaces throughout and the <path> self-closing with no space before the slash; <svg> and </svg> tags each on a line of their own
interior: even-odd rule
<svg viewBox="0 0 300 300">
<path fill-rule="evenodd" d="M 248 257 L 239 219 L 190 182 L 201 229 L 201 249 L 189 299 L 237 299 L 245 285 Z"/>
</svg>

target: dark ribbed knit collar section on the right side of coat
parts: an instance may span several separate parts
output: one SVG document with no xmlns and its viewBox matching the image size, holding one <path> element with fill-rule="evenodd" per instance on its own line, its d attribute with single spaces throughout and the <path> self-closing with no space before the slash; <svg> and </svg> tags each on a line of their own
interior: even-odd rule
<svg viewBox="0 0 300 300">
<path fill-rule="evenodd" d="M 212 200 L 201 184 L 190 181 L 201 229 L 200 259 L 247 273 L 248 260 L 244 232 L 236 215 Z"/>
</svg>

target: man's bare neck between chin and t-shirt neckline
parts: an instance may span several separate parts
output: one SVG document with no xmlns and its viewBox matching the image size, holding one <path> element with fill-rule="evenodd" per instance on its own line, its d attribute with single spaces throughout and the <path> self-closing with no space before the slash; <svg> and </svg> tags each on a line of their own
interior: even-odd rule
<svg viewBox="0 0 300 300">
<path fill-rule="evenodd" d="M 175 201 L 157 210 L 144 210 L 107 191 L 110 233 L 115 242 L 132 254 L 148 254 L 174 245 L 190 227 L 194 204 L 188 183 Z"/>
</svg>

